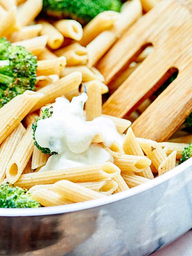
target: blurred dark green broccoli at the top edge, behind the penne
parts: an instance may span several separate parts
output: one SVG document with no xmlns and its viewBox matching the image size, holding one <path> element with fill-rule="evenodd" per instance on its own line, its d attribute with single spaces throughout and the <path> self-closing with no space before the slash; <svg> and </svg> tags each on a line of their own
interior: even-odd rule
<svg viewBox="0 0 192 256">
<path fill-rule="evenodd" d="M 46 14 L 59 19 L 78 20 L 83 25 L 100 12 L 119 12 L 120 9 L 120 0 L 43 0 L 43 12 Z"/>
</svg>

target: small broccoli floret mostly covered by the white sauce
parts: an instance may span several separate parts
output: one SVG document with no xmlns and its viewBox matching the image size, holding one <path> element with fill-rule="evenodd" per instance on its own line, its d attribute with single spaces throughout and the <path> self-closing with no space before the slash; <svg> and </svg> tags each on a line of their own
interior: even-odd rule
<svg viewBox="0 0 192 256">
<path fill-rule="evenodd" d="M 46 154 L 57 155 L 58 153 L 57 152 L 51 152 L 51 150 L 49 148 L 40 147 L 39 144 L 36 142 L 36 139 L 35 139 L 35 131 L 36 131 L 36 128 L 37 128 L 37 125 L 38 125 L 37 123 L 38 123 L 39 120 L 49 118 L 49 117 L 52 116 L 53 111 L 50 110 L 51 108 L 52 107 L 45 108 L 44 111 L 41 110 L 42 111 L 41 117 L 37 117 L 35 124 L 32 124 L 34 145 L 36 146 L 36 148 L 38 148 L 45 155 Z"/>
</svg>

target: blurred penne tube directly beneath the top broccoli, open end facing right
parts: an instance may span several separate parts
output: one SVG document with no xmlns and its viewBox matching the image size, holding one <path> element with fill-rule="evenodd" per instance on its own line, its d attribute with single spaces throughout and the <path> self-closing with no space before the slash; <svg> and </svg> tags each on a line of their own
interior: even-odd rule
<svg viewBox="0 0 192 256">
<path fill-rule="evenodd" d="M 79 41 L 83 36 L 83 28 L 76 20 L 58 20 L 53 24 L 65 37 Z"/>
</svg>

